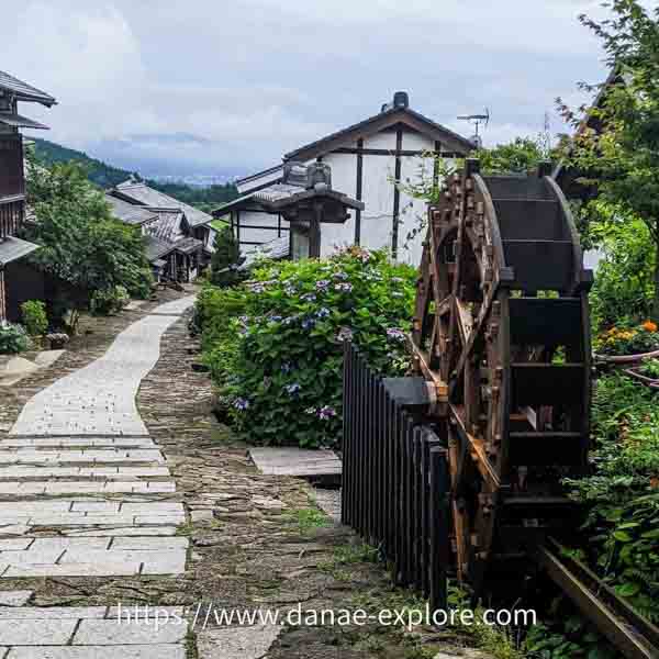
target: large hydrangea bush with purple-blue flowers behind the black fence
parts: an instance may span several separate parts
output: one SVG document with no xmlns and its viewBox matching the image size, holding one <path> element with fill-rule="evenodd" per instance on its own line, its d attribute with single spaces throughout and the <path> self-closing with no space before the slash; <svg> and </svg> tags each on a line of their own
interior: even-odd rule
<svg viewBox="0 0 659 659">
<path fill-rule="evenodd" d="M 371 366 L 407 366 L 416 271 L 383 252 L 266 263 L 239 287 L 206 287 L 197 305 L 204 358 L 224 411 L 257 444 L 334 446 L 345 340 Z"/>
</svg>

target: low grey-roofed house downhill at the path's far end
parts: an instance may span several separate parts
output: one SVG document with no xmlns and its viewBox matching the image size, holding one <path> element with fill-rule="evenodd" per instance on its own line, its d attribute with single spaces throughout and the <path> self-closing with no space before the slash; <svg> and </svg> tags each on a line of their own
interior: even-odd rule
<svg viewBox="0 0 659 659">
<path fill-rule="evenodd" d="M 189 282 L 209 265 L 215 239 L 211 215 L 136 179 L 109 190 L 108 200 L 115 217 L 141 226 L 158 280 Z"/>
</svg>

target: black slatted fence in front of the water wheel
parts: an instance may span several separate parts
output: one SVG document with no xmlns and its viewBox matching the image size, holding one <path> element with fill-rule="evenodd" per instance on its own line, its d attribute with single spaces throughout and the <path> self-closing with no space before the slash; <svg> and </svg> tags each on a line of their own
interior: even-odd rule
<svg viewBox="0 0 659 659">
<path fill-rule="evenodd" d="M 446 448 L 350 344 L 343 401 L 343 522 L 382 550 L 396 583 L 421 591 L 432 608 L 446 608 Z"/>
</svg>

